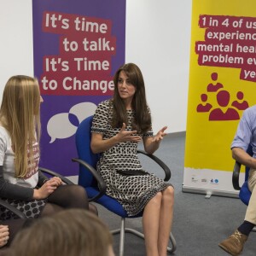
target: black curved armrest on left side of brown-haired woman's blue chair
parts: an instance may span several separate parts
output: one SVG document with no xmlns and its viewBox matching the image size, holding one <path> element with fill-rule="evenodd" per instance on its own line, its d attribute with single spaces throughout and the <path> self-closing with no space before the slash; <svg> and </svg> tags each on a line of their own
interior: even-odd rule
<svg viewBox="0 0 256 256">
<path fill-rule="evenodd" d="M 92 176 L 96 178 L 99 194 L 90 198 L 89 201 L 96 201 L 97 199 L 102 197 L 102 195 L 106 193 L 107 185 L 102 179 L 102 176 L 99 174 L 99 172 L 97 172 L 94 167 L 90 166 L 90 164 L 86 163 L 84 160 L 81 160 L 79 158 L 73 158 L 72 160 L 73 162 L 78 162 L 80 165 L 84 166 L 92 174 Z"/>
</svg>

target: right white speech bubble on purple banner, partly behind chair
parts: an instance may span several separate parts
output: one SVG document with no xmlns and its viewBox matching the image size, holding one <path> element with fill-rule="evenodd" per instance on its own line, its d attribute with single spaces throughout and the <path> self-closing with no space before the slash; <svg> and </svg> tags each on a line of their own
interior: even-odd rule
<svg viewBox="0 0 256 256">
<path fill-rule="evenodd" d="M 79 119 L 81 123 L 84 119 L 94 114 L 96 111 L 96 104 L 92 102 L 81 102 L 70 108 L 69 113 L 73 113 Z"/>
</svg>

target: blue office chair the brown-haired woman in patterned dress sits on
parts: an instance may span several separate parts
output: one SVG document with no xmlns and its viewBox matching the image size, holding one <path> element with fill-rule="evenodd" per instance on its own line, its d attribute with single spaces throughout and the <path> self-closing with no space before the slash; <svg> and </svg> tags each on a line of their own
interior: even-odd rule
<svg viewBox="0 0 256 256">
<path fill-rule="evenodd" d="M 95 201 L 107 208 L 110 212 L 113 212 L 121 217 L 121 226 L 118 230 L 112 230 L 113 235 L 120 234 L 119 241 L 119 256 L 124 255 L 125 244 L 125 232 L 134 234 L 138 237 L 144 238 L 144 235 L 137 230 L 125 228 L 125 218 L 137 218 L 143 216 L 143 212 L 135 217 L 129 217 L 125 212 L 125 209 L 120 205 L 118 201 L 112 197 L 106 195 L 106 184 L 96 171 L 96 163 L 100 158 L 100 154 L 93 154 L 90 150 L 90 126 L 93 116 L 84 119 L 79 125 L 76 131 L 76 146 L 79 158 L 73 159 L 73 161 L 79 163 L 79 185 L 86 189 L 89 201 Z M 142 150 L 138 150 L 138 153 L 147 155 L 150 159 L 154 160 L 160 167 L 166 172 L 165 180 L 169 180 L 171 177 L 171 171 L 160 159 L 152 154 L 147 154 Z M 172 248 L 168 247 L 167 251 L 173 253 L 176 250 L 176 241 L 170 234 L 170 241 Z"/>
</svg>

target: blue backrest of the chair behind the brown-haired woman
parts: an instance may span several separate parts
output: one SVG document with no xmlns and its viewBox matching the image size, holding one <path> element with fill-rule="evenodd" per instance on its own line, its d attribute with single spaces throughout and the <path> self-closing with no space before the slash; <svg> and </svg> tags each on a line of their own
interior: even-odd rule
<svg viewBox="0 0 256 256">
<path fill-rule="evenodd" d="M 84 119 L 76 131 L 76 147 L 79 159 L 86 161 L 90 166 L 96 168 L 96 163 L 100 158 L 100 154 L 93 154 L 90 150 L 90 126 L 93 116 Z M 84 188 L 96 187 L 96 180 L 90 172 L 82 165 L 79 165 L 79 185 Z"/>
</svg>

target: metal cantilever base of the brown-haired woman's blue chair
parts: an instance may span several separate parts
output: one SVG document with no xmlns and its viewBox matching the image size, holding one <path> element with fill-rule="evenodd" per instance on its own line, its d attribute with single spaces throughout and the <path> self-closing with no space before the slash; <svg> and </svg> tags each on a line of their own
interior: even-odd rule
<svg viewBox="0 0 256 256">
<path fill-rule="evenodd" d="M 125 232 L 126 233 L 131 233 L 135 236 L 138 236 L 138 237 L 144 239 L 143 233 L 141 233 L 137 230 L 125 228 L 125 218 L 121 218 L 121 227 L 120 227 L 120 229 L 111 230 L 110 232 L 111 232 L 112 235 L 120 234 L 119 256 L 124 255 Z M 176 245 L 176 240 L 175 240 L 174 236 L 172 235 L 172 232 L 170 233 L 170 241 L 172 243 L 172 247 L 167 247 L 167 252 L 168 253 L 174 253 L 176 251 L 177 245 Z"/>
</svg>

